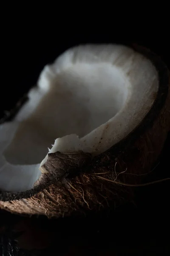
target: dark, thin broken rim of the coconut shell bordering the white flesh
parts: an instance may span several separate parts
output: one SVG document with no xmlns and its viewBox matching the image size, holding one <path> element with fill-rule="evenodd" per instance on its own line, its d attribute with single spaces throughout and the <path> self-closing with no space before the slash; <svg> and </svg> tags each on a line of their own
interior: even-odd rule
<svg viewBox="0 0 170 256">
<path fill-rule="evenodd" d="M 164 61 L 161 60 L 161 58 L 156 55 L 154 52 L 150 51 L 150 49 L 147 49 L 145 47 L 139 46 L 139 45 L 131 45 L 132 49 L 134 49 L 136 52 L 144 55 L 147 59 L 149 59 L 154 67 L 156 68 L 158 72 L 159 77 L 159 89 L 156 95 L 154 95 L 154 103 L 152 107 L 150 108 L 150 111 L 144 116 L 142 119 L 142 122 L 133 130 L 130 134 L 127 135 L 123 140 L 119 141 L 115 145 L 113 145 L 111 148 L 109 148 L 107 151 L 112 151 L 112 153 L 116 154 L 116 152 L 121 151 L 122 148 L 129 148 L 133 143 L 137 140 L 139 135 L 144 134 L 144 132 L 152 127 L 154 120 L 156 117 L 158 117 L 161 109 L 163 108 L 165 101 L 167 99 L 167 94 L 169 90 L 169 70 L 164 63 Z M 15 110 L 13 111 L 15 113 Z M 57 157 L 61 157 L 61 159 L 69 156 L 70 154 L 61 154 L 60 152 L 56 152 Z M 104 152 L 105 153 L 105 152 Z M 97 159 L 97 157 L 101 156 L 102 154 L 99 154 L 98 156 L 94 157 L 94 161 Z M 48 154 L 48 157 L 52 154 Z M 81 156 L 80 158 L 83 159 L 83 163 L 85 163 L 85 167 L 88 166 L 88 163 L 91 162 L 91 154 L 78 152 L 78 153 L 72 153 L 76 158 Z M 84 161 L 85 160 L 85 161 Z M 92 160 L 93 161 L 93 160 Z M 77 164 L 78 168 L 75 172 L 75 175 L 79 175 L 79 172 L 83 172 L 84 166 L 82 165 L 82 161 L 80 160 L 80 163 Z M 24 192 L 4 192 L 0 190 L 0 201 L 14 201 L 22 198 L 31 198 L 33 195 L 36 195 L 38 192 L 42 191 L 43 189 L 48 188 L 52 183 L 56 183 L 59 180 L 62 180 L 63 178 L 67 177 L 69 174 L 71 174 L 69 168 L 68 172 L 59 172 L 55 177 L 51 177 L 49 179 L 49 176 L 44 176 L 44 179 L 42 179 L 42 182 L 35 186 L 33 189 L 24 191 Z"/>
</svg>

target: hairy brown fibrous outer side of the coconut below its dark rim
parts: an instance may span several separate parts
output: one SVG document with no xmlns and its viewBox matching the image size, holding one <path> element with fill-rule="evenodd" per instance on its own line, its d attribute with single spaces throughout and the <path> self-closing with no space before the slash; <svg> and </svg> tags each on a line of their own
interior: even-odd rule
<svg viewBox="0 0 170 256">
<path fill-rule="evenodd" d="M 11 212 L 59 217 L 132 200 L 132 188 L 119 182 L 141 183 L 142 175 L 150 171 L 159 156 L 169 129 L 170 93 L 153 126 L 137 138 L 130 149 L 125 148 L 117 155 L 109 150 L 92 160 L 86 172 L 63 178 L 31 198 L 1 201 L 0 205 Z"/>
</svg>

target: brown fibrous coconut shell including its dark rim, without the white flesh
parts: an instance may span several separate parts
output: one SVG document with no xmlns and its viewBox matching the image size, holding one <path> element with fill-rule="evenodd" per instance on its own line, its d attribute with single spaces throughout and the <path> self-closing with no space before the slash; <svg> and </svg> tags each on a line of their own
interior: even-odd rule
<svg viewBox="0 0 170 256">
<path fill-rule="evenodd" d="M 48 217 L 69 216 L 133 200 L 134 186 L 153 168 L 170 131 L 170 73 L 150 50 L 133 48 L 152 61 L 159 91 L 140 125 L 108 151 L 92 158 L 75 152 L 48 154 L 37 186 L 26 192 L 0 191 L 0 207 L 10 212 Z M 106 127 L 107 129 L 107 127 Z"/>
</svg>

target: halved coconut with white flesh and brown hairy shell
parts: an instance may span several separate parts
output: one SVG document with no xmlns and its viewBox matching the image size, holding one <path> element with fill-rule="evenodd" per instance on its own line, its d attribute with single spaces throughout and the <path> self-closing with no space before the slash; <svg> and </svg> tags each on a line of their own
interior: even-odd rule
<svg viewBox="0 0 170 256">
<path fill-rule="evenodd" d="M 59 217 L 132 201 L 170 130 L 169 85 L 143 47 L 65 51 L 0 125 L 0 207 Z"/>
</svg>

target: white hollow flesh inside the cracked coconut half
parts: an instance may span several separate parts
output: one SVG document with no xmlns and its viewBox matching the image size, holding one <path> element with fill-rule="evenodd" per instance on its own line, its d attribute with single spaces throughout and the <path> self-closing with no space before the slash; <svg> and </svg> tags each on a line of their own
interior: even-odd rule
<svg viewBox="0 0 170 256">
<path fill-rule="evenodd" d="M 0 125 L 0 189 L 31 189 L 48 152 L 106 151 L 142 122 L 158 88 L 156 68 L 133 49 L 68 49 L 45 66 L 15 119 Z"/>
</svg>

